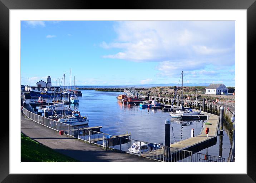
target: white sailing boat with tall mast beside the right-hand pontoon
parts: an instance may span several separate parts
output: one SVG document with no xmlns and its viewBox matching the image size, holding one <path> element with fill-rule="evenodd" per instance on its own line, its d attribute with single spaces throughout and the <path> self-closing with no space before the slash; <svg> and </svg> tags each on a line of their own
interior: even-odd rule
<svg viewBox="0 0 256 183">
<path fill-rule="evenodd" d="M 195 115 L 201 115 L 200 112 L 192 111 L 191 108 L 184 108 L 183 107 L 183 71 L 181 72 L 182 75 L 182 85 L 181 85 L 181 109 L 173 109 L 173 111 L 170 111 L 170 115 L 172 117 L 182 117 L 182 116 L 195 116 Z"/>
</svg>

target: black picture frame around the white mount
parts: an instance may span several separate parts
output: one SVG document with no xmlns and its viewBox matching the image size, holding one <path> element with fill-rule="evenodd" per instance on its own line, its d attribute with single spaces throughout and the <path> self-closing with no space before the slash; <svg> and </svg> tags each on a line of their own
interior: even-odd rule
<svg viewBox="0 0 256 183">
<path fill-rule="evenodd" d="M 247 10 L 247 73 L 253 73 L 253 67 L 248 67 L 249 63 L 255 61 L 254 49 L 256 44 L 256 2 L 255 0 L 137 0 L 137 1 L 89 1 L 89 0 L 0 0 L 0 42 L 2 62 L 6 64 L 9 61 L 9 10 L 11 9 L 246 9 Z M 9 65 L 7 65 L 9 67 Z M 247 75 L 249 84 L 249 76 Z M 6 82 L 6 81 L 5 81 Z M 6 83 L 7 84 L 7 83 Z M 9 83 L 8 83 L 9 85 Z M 7 85 L 5 85 L 7 86 Z M 248 91 L 248 90 L 247 90 Z M 249 92 L 249 91 L 248 91 Z M 247 93 L 249 96 L 249 93 Z M 6 95 L 6 93 L 5 93 Z M 3 96 L 3 95 L 1 95 Z M 11 96 L 9 96 L 11 97 Z M 244 100 L 247 101 L 247 98 Z M 251 102 L 248 102 L 248 109 Z M 10 111 L 9 111 L 10 112 Z M 246 121 L 243 123 L 247 123 Z M 248 119 L 249 121 L 249 119 Z M 254 123 L 253 121 L 251 121 Z M 249 124 L 248 124 L 249 126 Z M 69 177 L 85 178 L 89 180 L 96 178 L 100 181 L 122 181 L 128 180 L 129 175 L 123 175 L 122 178 L 111 175 L 28 175 L 28 174 L 9 174 L 9 124 L 2 123 L 0 133 L 0 181 L 9 182 L 53 182 L 67 180 Z M 255 163 L 255 140 L 254 129 L 247 128 L 247 174 L 187 174 L 187 175 L 168 175 L 170 181 L 181 179 L 189 182 L 255 182 L 256 181 L 256 163 Z M 245 134 L 246 135 L 246 134 Z M 236 149 L 242 151 L 242 149 Z M 221 166 L 221 164 L 220 164 Z M 184 167 L 186 168 L 186 167 Z M 207 171 L 207 168 L 206 168 Z M 210 173 L 210 172 L 209 172 Z M 148 175 L 147 179 L 151 181 L 160 181 L 164 177 Z M 73 179 L 73 181 L 76 181 Z M 126 181 L 125 181 L 126 182 Z"/>
</svg>

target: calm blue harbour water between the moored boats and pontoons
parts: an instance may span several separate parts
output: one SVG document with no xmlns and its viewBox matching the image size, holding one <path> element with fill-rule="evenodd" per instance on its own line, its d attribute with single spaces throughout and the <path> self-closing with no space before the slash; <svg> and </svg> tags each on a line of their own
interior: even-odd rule
<svg viewBox="0 0 256 183">
<path fill-rule="evenodd" d="M 125 105 L 118 102 L 116 97 L 120 92 L 95 92 L 95 90 L 80 90 L 83 96 L 79 98 L 79 105 L 71 104 L 71 108 L 77 108 L 82 116 L 88 116 L 89 127 L 103 126 L 104 133 L 118 135 L 131 133 L 131 138 L 151 143 L 164 143 L 165 120 L 170 119 L 168 112 L 162 110 L 141 109 L 136 105 Z M 49 99 L 48 99 L 49 100 Z M 191 129 L 194 128 L 195 136 L 202 132 L 202 120 L 181 121 L 171 118 L 171 143 L 191 137 Z M 86 126 L 88 127 L 88 126 Z M 203 149 L 206 153 L 222 157 L 226 160 L 230 153 L 230 140 L 224 132 L 222 151 L 217 144 Z"/>
</svg>

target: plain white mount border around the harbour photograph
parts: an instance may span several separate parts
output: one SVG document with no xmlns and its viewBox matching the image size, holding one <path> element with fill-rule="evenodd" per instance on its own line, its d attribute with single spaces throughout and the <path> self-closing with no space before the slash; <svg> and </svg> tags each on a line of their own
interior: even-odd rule
<svg viewBox="0 0 256 183">
<path fill-rule="evenodd" d="M 221 166 L 219 163 L 20 163 L 17 116 L 20 114 L 21 20 L 235 20 L 236 135 L 239 137 L 236 162 L 221 163 Z M 242 114 L 247 111 L 246 76 L 247 10 L 10 10 L 10 174 L 247 174 L 247 116 Z"/>
</svg>

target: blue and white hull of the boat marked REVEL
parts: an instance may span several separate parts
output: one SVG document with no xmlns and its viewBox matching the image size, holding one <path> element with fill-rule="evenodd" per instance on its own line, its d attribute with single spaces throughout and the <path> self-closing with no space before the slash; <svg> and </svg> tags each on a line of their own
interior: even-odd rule
<svg viewBox="0 0 256 183">
<path fill-rule="evenodd" d="M 80 114 L 74 114 L 72 117 L 60 118 L 58 122 L 67 123 L 72 126 L 88 124 L 88 117 L 83 117 Z"/>
</svg>

